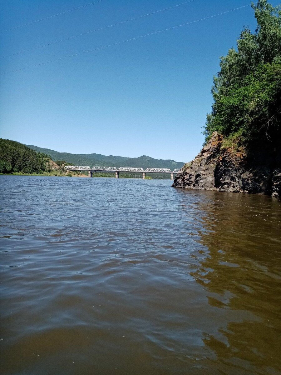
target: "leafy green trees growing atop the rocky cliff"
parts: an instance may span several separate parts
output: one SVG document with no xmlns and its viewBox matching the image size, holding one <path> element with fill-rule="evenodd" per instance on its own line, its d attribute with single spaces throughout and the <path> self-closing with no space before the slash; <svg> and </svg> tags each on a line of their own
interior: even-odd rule
<svg viewBox="0 0 281 375">
<path fill-rule="evenodd" d="M 259 0 L 252 8 L 255 33 L 244 28 L 237 50 L 231 48 L 221 57 L 214 77 L 212 113 L 203 131 L 206 141 L 215 130 L 246 143 L 280 137 L 281 7 Z"/>
</svg>

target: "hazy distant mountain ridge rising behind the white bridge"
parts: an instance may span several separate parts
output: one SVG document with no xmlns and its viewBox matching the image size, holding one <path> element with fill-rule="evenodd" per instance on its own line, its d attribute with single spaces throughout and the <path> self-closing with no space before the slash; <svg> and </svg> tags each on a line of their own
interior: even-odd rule
<svg viewBox="0 0 281 375">
<path fill-rule="evenodd" d="M 139 157 L 124 157 L 124 156 L 114 156 L 114 155 L 101 155 L 101 154 L 70 154 L 67 152 L 58 152 L 50 150 L 49 148 L 42 148 L 33 145 L 26 145 L 37 152 L 43 152 L 51 156 L 55 160 L 65 160 L 68 163 L 74 165 L 88 165 L 92 167 L 93 165 L 98 166 L 131 166 L 131 167 L 142 167 L 142 168 L 170 168 L 171 170 L 175 168 L 181 168 L 184 162 L 175 162 L 175 160 L 170 159 L 154 159 L 150 156 L 139 156 Z"/>
</svg>

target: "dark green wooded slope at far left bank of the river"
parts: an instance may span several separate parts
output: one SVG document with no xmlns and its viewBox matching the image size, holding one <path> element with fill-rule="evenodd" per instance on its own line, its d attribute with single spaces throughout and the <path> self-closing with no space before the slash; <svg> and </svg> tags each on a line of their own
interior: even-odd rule
<svg viewBox="0 0 281 375">
<path fill-rule="evenodd" d="M 9 139 L 0 138 L 0 172 L 40 173 L 50 171 L 48 155 Z"/>
</svg>

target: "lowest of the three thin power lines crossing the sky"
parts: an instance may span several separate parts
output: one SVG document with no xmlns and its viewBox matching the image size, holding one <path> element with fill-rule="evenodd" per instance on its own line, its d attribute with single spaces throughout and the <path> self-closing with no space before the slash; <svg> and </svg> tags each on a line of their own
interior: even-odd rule
<svg viewBox="0 0 281 375">
<path fill-rule="evenodd" d="M 4 75 L 4 74 L 8 74 L 8 73 L 14 73 L 14 72 L 19 72 L 19 71 L 24 70 L 24 69 L 34 68 L 34 67 L 36 67 L 36 66 L 45 65 L 45 64 L 48 64 L 48 63 L 53 63 L 53 62 L 55 62 L 55 61 L 64 60 L 65 58 L 69 58 L 69 57 L 75 57 L 75 56 L 78 56 L 78 55 L 81 55 L 81 54 L 84 54 L 84 53 L 87 53 L 87 52 L 93 52 L 93 51 L 97 51 L 97 50 L 99 50 L 99 49 L 103 49 L 103 48 L 107 48 L 107 47 L 112 47 L 112 46 L 115 46 L 115 45 L 118 45 L 118 44 L 121 44 L 121 43 L 130 42 L 130 41 L 132 41 L 132 40 L 140 39 L 140 38 L 143 38 L 143 37 L 145 37 L 145 36 L 154 35 L 154 34 L 162 33 L 163 31 L 172 30 L 173 28 L 178 28 L 178 27 L 181 27 L 181 26 L 190 25 L 190 24 L 195 23 L 195 22 L 208 20 L 209 18 L 213 18 L 213 17 L 220 16 L 220 15 L 222 15 L 222 14 L 226 14 L 226 13 L 229 13 L 229 12 L 233 12 L 234 10 L 242 9 L 242 8 L 245 8 L 245 7 L 250 6 L 250 5 L 251 5 L 251 4 L 244 5 L 244 6 L 240 6 L 240 7 L 235 8 L 235 9 L 226 10 L 226 12 L 217 13 L 217 14 L 214 14 L 214 15 L 212 15 L 212 16 L 208 16 L 208 17 L 200 18 L 199 20 L 195 20 L 195 21 L 187 22 L 187 23 L 180 24 L 180 25 L 177 25 L 177 26 L 168 27 L 168 28 L 165 28 L 165 29 L 163 29 L 163 30 L 154 31 L 153 33 L 149 33 L 149 34 L 145 34 L 145 35 L 141 35 L 141 36 L 136 36 L 135 38 L 122 40 L 121 42 L 116 42 L 116 43 L 108 44 L 108 45 L 105 45 L 105 46 L 102 46 L 102 47 L 98 47 L 98 48 L 94 48 L 94 49 L 88 49 L 87 51 L 78 52 L 78 53 L 75 53 L 75 54 L 72 54 L 72 55 L 68 55 L 68 56 L 64 56 L 64 57 L 60 57 L 60 58 L 55 58 L 54 60 L 45 61 L 44 63 L 35 64 L 35 65 L 30 65 L 30 66 L 25 66 L 24 68 L 15 69 L 15 70 L 13 70 L 13 71 L 5 72 L 5 73 L 2 73 L 2 74 L 0 74 L 0 75 Z"/>
</svg>

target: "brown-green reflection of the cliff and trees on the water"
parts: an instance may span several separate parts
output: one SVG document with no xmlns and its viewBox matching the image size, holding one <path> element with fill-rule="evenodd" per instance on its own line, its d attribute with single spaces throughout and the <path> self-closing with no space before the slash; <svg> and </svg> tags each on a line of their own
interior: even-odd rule
<svg viewBox="0 0 281 375">
<path fill-rule="evenodd" d="M 198 204 L 202 258 L 190 274 L 207 291 L 209 305 L 224 314 L 215 334 L 203 333 L 203 342 L 228 371 L 279 374 L 280 203 L 265 196 L 207 196 Z"/>
</svg>

